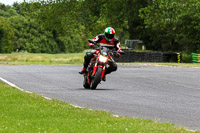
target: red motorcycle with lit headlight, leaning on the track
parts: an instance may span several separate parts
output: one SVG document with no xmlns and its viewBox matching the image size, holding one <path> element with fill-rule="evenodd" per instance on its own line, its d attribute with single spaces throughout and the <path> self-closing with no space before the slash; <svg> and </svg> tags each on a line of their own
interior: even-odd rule
<svg viewBox="0 0 200 133">
<path fill-rule="evenodd" d="M 88 40 L 90 43 L 94 43 L 92 40 Z M 108 47 L 98 46 L 95 48 L 99 52 L 94 54 L 91 59 L 86 73 L 84 76 L 83 87 L 86 89 L 96 89 L 102 78 L 105 76 L 105 71 L 109 67 L 109 61 L 113 60 L 112 56 L 117 52 L 124 54 L 123 51 L 113 51 Z"/>
</svg>

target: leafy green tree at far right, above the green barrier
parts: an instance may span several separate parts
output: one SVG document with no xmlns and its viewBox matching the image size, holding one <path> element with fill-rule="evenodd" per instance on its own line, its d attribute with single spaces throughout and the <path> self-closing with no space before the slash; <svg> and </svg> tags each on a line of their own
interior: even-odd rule
<svg viewBox="0 0 200 133">
<path fill-rule="evenodd" d="M 157 0 L 140 10 L 156 50 L 195 52 L 199 47 L 199 0 Z"/>
</svg>

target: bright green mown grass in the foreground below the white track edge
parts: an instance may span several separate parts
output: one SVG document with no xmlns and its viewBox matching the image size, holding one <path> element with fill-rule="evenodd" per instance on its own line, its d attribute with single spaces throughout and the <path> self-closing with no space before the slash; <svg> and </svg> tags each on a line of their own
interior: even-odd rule
<svg viewBox="0 0 200 133">
<path fill-rule="evenodd" d="M 2 133 L 190 133 L 182 127 L 138 118 L 114 117 L 22 92 L 0 82 Z M 198 132 L 199 133 L 199 132 Z"/>
</svg>

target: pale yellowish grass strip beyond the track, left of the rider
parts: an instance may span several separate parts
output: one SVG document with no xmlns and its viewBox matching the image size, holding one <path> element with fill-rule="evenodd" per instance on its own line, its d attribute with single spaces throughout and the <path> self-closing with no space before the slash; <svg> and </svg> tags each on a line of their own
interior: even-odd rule
<svg viewBox="0 0 200 133">
<path fill-rule="evenodd" d="M 0 54 L 1 64 L 81 64 L 83 53 L 69 54 L 34 54 L 34 53 L 12 53 Z"/>
</svg>

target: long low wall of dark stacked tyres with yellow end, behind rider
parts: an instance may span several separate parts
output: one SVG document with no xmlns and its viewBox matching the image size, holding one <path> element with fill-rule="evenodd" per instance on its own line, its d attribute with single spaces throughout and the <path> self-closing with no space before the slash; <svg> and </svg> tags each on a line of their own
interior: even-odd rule
<svg viewBox="0 0 200 133">
<path fill-rule="evenodd" d="M 120 58 L 114 58 L 116 62 L 177 62 L 182 60 L 181 53 L 174 52 L 134 52 L 125 51 Z"/>
</svg>

